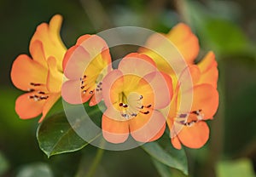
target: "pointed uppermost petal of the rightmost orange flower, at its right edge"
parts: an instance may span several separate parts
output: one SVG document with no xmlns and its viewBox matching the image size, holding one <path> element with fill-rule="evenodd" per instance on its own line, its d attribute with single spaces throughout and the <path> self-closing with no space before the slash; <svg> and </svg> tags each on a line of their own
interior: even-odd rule
<svg viewBox="0 0 256 177">
<path fill-rule="evenodd" d="M 199 83 L 209 83 L 213 88 L 217 88 L 218 82 L 218 63 L 215 60 L 215 54 L 210 51 L 203 60 L 198 64 L 201 70 Z"/>
</svg>

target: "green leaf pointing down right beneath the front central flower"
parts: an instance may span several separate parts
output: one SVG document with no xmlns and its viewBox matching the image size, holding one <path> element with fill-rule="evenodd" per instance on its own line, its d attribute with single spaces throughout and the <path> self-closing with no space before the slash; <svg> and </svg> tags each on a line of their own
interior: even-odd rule
<svg viewBox="0 0 256 177">
<path fill-rule="evenodd" d="M 142 148 L 160 163 L 168 167 L 177 168 L 181 170 L 183 174 L 188 174 L 188 163 L 185 151 L 183 151 L 183 149 L 174 149 L 167 135 L 158 141 L 144 144 Z"/>
</svg>

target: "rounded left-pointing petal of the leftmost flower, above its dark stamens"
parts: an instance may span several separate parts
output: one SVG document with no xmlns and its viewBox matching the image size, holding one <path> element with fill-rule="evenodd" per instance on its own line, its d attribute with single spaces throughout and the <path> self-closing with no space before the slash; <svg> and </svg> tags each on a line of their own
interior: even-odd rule
<svg viewBox="0 0 256 177">
<path fill-rule="evenodd" d="M 13 63 L 11 79 L 17 88 L 28 91 L 31 83 L 45 84 L 46 78 L 46 68 L 26 54 L 20 54 Z"/>
</svg>

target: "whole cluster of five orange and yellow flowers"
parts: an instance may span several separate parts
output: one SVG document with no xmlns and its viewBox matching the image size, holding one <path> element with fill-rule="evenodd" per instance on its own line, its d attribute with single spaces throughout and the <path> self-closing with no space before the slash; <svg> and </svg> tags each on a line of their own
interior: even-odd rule
<svg viewBox="0 0 256 177">
<path fill-rule="evenodd" d="M 189 26 L 180 23 L 168 34 L 148 37 L 145 47 L 127 54 L 114 69 L 102 37 L 84 35 L 66 49 L 61 21 L 57 14 L 49 24 L 39 25 L 30 43 L 32 57 L 20 54 L 14 61 L 11 79 L 26 91 L 15 103 L 20 118 L 42 113 L 42 122 L 60 97 L 69 104 L 89 101 L 90 106 L 103 101 L 102 134 L 108 142 L 123 143 L 130 134 L 140 142 L 158 140 L 166 125 L 177 149 L 207 142 L 205 121 L 218 109 L 218 68 L 212 51 L 195 64 L 200 46 Z M 176 62 L 177 55 L 183 62 Z M 177 73 L 170 63 L 182 70 Z M 188 79 L 191 84 L 184 87 Z M 191 98 L 189 109 L 183 109 L 183 98 Z"/>
</svg>

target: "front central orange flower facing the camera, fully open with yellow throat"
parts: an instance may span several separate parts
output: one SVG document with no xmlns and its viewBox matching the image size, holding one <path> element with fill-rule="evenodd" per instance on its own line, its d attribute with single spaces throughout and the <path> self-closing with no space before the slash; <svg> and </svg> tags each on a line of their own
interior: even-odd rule
<svg viewBox="0 0 256 177">
<path fill-rule="evenodd" d="M 166 118 L 160 109 L 172 98 L 172 79 L 157 71 L 144 54 L 128 54 L 102 82 L 107 110 L 102 131 L 111 143 L 124 142 L 129 133 L 141 142 L 157 140 L 164 133 Z"/>
</svg>

